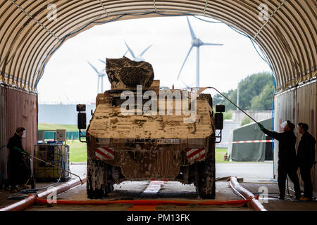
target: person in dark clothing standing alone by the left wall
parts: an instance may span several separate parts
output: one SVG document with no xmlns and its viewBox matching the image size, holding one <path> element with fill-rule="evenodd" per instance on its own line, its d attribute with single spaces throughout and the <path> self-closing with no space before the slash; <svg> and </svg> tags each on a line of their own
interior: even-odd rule
<svg viewBox="0 0 317 225">
<path fill-rule="evenodd" d="M 22 136 L 25 128 L 18 127 L 15 134 L 9 139 L 7 148 L 10 150 L 8 155 L 8 182 L 11 185 L 11 192 L 17 192 L 17 185 L 25 186 L 30 179 L 30 165 L 27 163 L 27 153 L 22 146 Z"/>
</svg>

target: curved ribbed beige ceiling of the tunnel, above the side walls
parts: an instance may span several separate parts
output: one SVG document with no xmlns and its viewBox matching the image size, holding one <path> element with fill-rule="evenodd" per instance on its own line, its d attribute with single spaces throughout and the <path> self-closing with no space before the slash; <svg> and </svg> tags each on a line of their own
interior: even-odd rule
<svg viewBox="0 0 317 225">
<path fill-rule="evenodd" d="M 254 39 L 271 64 L 277 89 L 286 89 L 316 78 L 316 2 L 1 0 L 0 82 L 35 91 L 54 50 L 101 22 L 188 13 L 220 20 Z M 48 4 L 55 4 L 57 20 L 49 20 L 54 8 Z"/>
</svg>

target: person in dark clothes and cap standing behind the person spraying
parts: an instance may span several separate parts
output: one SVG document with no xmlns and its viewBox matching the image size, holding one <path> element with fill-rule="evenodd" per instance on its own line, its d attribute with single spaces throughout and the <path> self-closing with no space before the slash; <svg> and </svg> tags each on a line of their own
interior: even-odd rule
<svg viewBox="0 0 317 225">
<path fill-rule="evenodd" d="M 316 140 L 308 132 L 308 124 L 300 122 L 298 124 L 299 134 L 302 139 L 299 141 L 297 148 L 297 164 L 304 181 L 304 198 L 299 200 L 312 200 L 313 184 L 311 183 L 311 167 L 315 164 L 315 143 Z"/>
</svg>

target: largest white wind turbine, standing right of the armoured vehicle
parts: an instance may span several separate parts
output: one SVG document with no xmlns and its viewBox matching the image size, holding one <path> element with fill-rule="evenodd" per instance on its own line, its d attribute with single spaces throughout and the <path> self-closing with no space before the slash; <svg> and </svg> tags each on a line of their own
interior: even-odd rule
<svg viewBox="0 0 317 225">
<path fill-rule="evenodd" d="M 188 22 L 190 35 L 192 36 L 192 46 L 190 46 L 190 49 L 187 53 L 187 56 L 184 60 L 184 63 L 182 63 L 182 68 L 184 67 L 184 65 L 186 63 L 186 60 L 189 56 L 189 53 L 192 51 L 192 48 L 196 47 L 197 48 L 196 86 L 199 87 L 199 47 L 202 45 L 221 46 L 223 44 L 204 43 L 203 41 L 201 41 L 201 39 L 196 37 L 196 34 L 194 33 L 194 30 L 192 30 L 192 26 L 190 25 L 188 18 L 187 18 L 187 22 Z M 182 72 L 182 68 L 180 68 L 180 72 Z M 178 79 L 180 78 L 180 72 L 178 73 Z"/>
</svg>

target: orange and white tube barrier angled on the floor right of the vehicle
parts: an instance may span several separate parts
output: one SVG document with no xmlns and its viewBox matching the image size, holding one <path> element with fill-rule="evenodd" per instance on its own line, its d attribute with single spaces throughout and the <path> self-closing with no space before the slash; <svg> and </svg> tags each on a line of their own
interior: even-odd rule
<svg viewBox="0 0 317 225">
<path fill-rule="evenodd" d="M 255 211 L 267 211 L 265 207 L 259 202 L 259 196 L 254 196 L 253 193 L 249 192 L 246 188 L 242 187 L 237 178 L 234 176 L 230 177 L 230 186 L 238 195 L 245 200 L 250 200 L 250 205 Z"/>
</svg>

